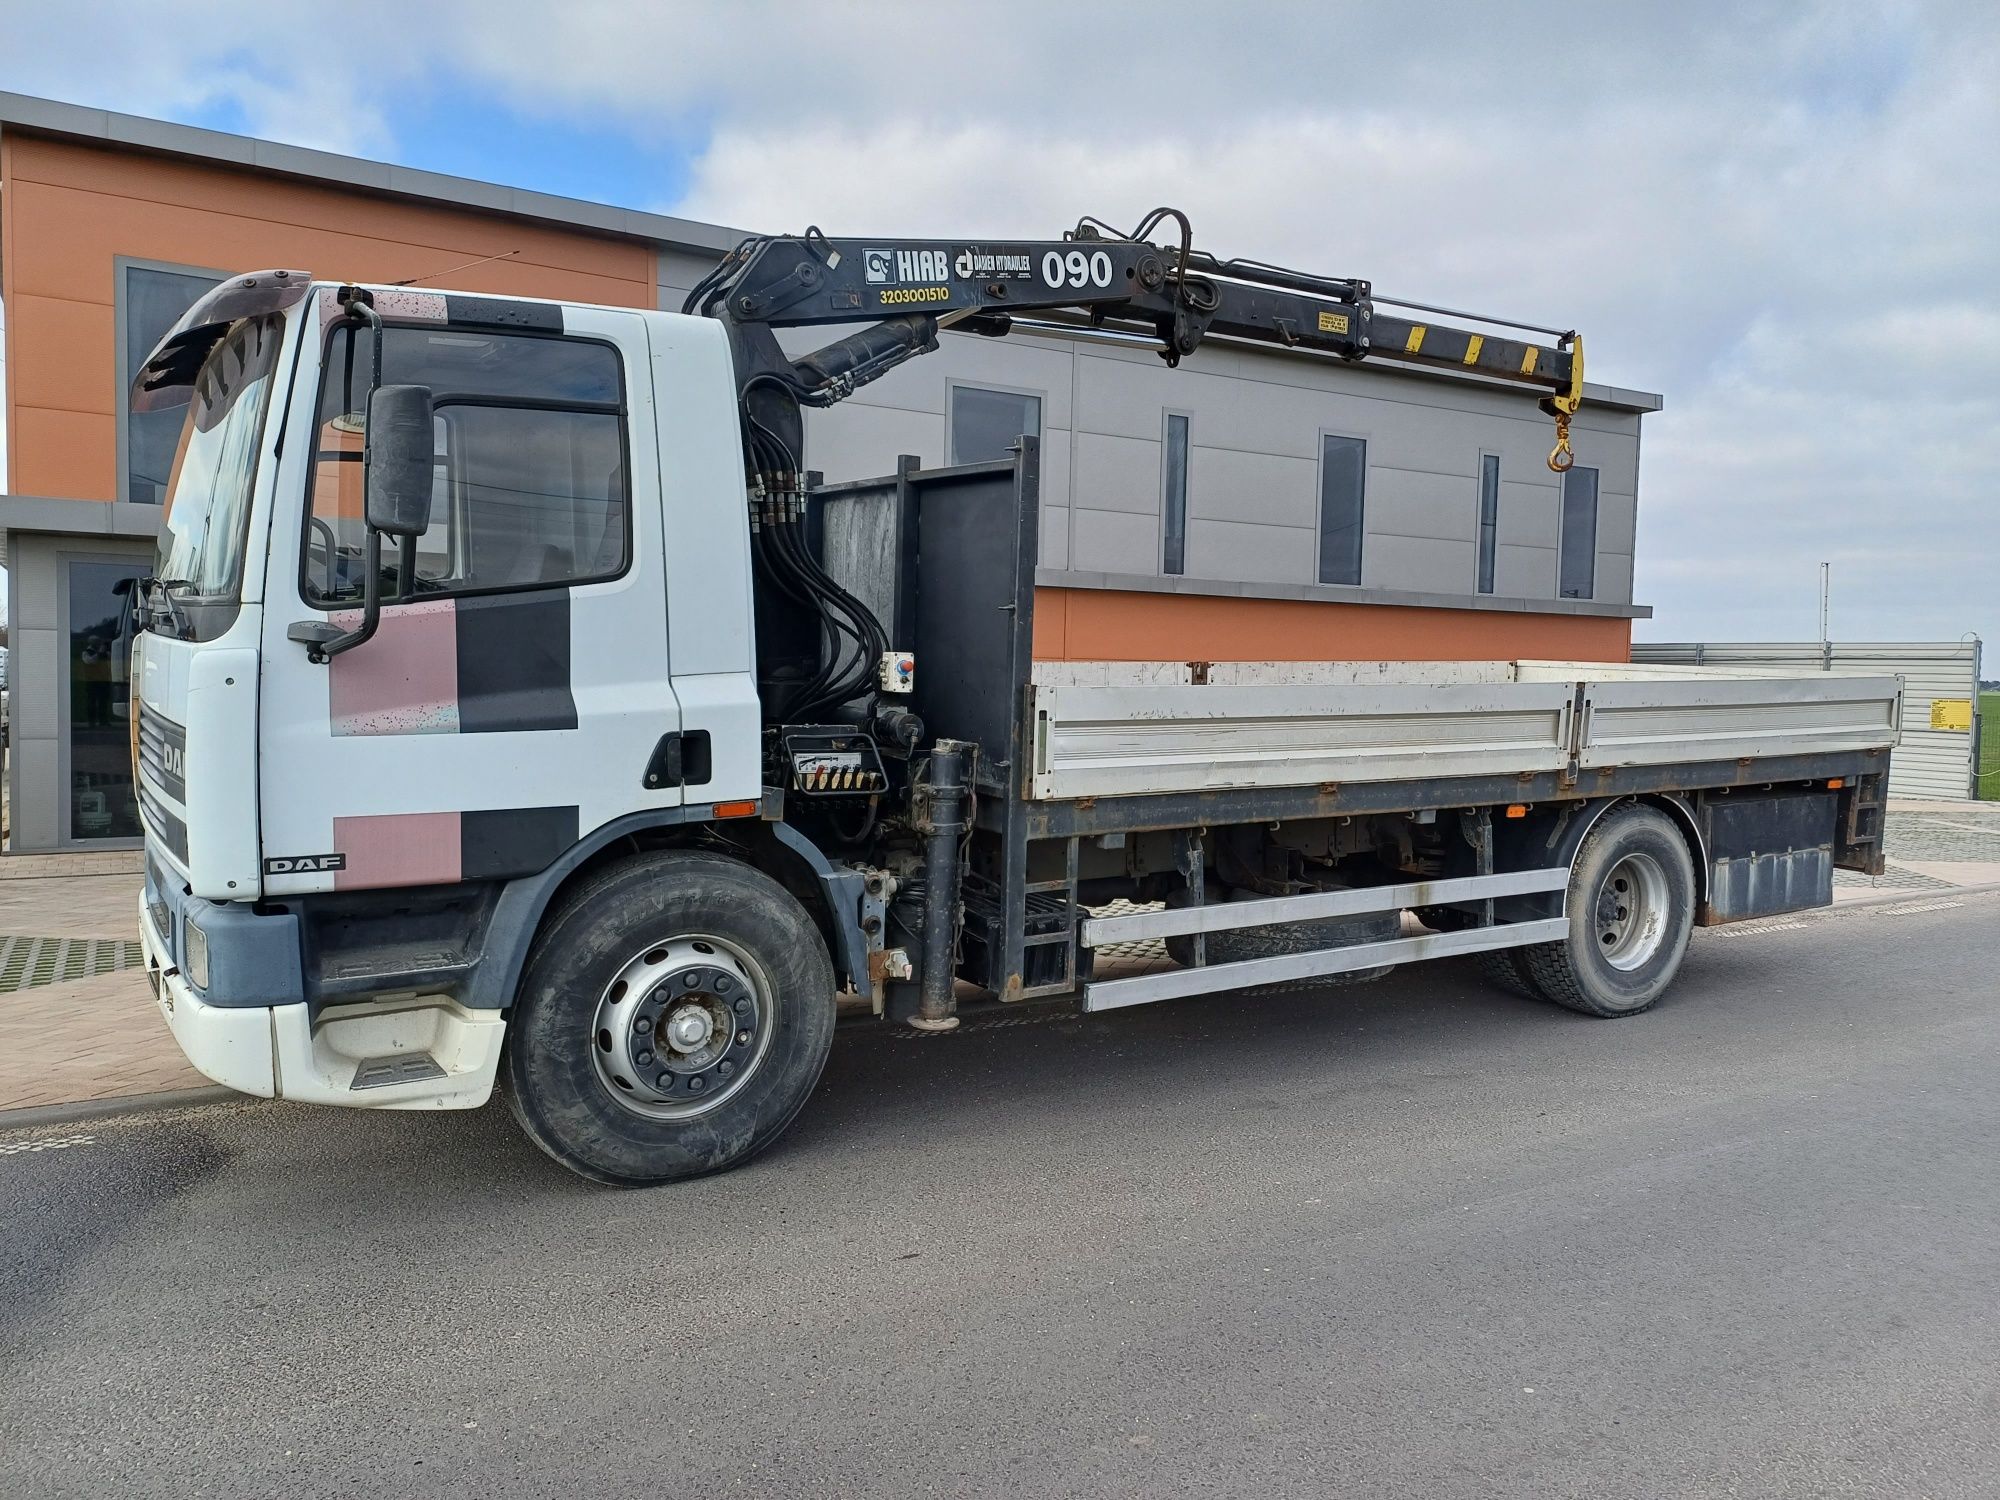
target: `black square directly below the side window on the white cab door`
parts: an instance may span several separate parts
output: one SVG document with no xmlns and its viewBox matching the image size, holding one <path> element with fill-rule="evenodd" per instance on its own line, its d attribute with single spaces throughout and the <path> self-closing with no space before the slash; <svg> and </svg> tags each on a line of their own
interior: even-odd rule
<svg viewBox="0 0 2000 1500">
<path fill-rule="evenodd" d="M 456 614 L 460 734 L 576 728 L 568 590 L 462 598 Z"/>
</svg>

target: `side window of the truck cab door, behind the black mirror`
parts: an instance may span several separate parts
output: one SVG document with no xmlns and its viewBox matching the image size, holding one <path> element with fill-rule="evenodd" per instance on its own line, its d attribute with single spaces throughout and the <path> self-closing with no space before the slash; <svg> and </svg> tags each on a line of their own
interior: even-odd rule
<svg viewBox="0 0 2000 1500">
<path fill-rule="evenodd" d="M 320 444 L 304 538 L 304 594 L 362 598 L 360 412 L 370 336 L 342 328 L 320 390 Z M 416 578 L 384 548 L 382 598 L 558 588 L 612 578 L 630 554 L 618 350 L 584 338 L 390 328 L 384 384 L 432 392 L 430 526 Z"/>
</svg>

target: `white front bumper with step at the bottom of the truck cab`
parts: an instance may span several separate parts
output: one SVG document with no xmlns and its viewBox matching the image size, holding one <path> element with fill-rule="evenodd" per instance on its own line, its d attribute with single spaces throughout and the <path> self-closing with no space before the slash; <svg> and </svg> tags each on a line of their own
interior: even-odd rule
<svg viewBox="0 0 2000 1500">
<path fill-rule="evenodd" d="M 444 996 L 328 1008 L 318 1018 L 304 1002 L 212 1006 L 174 966 L 144 898 L 138 932 L 160 1016 L 188 1062 L 226 1088 L 362 1110 L 472 1110 L 492 1096 L 506 1036 L 498 1010 L 466 1010 Z"/>
</svg>

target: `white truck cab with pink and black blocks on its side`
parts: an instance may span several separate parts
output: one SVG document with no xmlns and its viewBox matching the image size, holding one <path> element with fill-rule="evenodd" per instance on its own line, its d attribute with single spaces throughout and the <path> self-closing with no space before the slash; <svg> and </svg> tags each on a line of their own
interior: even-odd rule
<svg viewBox="0 0 2000 1500">
<path fill-rule="evenodd" d="M 358 1004 L 314 1026 L 298 918 L 270 902 L 542 872 L 688 808 L 682 780 L 636 774 L 676 734 L 706 736 L 704 810 L 760 798 L 734 384 L 706 318 L 374 292 L 382 382 L 430 390 L 430 514 L 372 638 L 314 660 L 288 632 L 356 630 L 366 564 L 378 334 L 338 296 L 240 278 L 210 302 L 268 306 L 220 326 L 196 306 L 156 360 L 154 398 L 190 418 L 136 660 L 140 930 L 212 1078 L 466 1108 L 492 1092 L 500 1012 L 368 984 L 370 964 L 452 970 L 458 916 L 378 922 L 324 976 Z"/>
</svg>

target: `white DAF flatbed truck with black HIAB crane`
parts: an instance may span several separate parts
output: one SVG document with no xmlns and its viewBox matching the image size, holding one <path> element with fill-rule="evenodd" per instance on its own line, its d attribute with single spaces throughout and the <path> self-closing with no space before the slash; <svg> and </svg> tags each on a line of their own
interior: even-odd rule
<svg viewBox="0 0 2000 1500">
<path fill-rule="evenodd" d="M 252 1096 L 498 1088 L 638 1186 L 772 1144 L 842 1008 L 944 1032 L 1466 956 L 1630 1018 L 1694 926 L 1880 872 L 1894 678 L 1038 662 L 1034 438 L 838 484 L 804 452 L 942 330 L 1052 326 L 1504 382 L 1562 470 L 1582 340 L 1430 312 L 1170 210 L 752 236 L 678 314 L 222 282 L 132 390 L 188 408 L 134 596 L 166 1024 Z M 1102 958 L 1134 942 L 1164 958 Z"/>
</svg>

